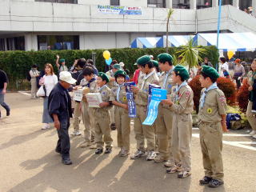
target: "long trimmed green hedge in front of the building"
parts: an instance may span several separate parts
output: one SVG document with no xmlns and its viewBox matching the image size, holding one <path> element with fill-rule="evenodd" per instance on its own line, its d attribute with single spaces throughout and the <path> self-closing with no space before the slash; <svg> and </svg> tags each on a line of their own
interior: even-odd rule
<svg viewBox="0 0 256 192">
<path fill-rule="evenodd" d="M 201 55 L 202 58 L 210 58 L 210 62 L 218 62 L 218 50 L 215 46 L 204 47 L 208 54 Z M 178 48 L 170 47 L 169 53 L 174 54 Z M 0 69 L 6 71 L 10 84 L 14 87 L 12 89 L 21 89 L 22 79 L 26 78 L 27 72 L 33 64 L 37 64 L 39 70 L 43 70 L 46 62 L 50 62 L 54 66 L 54 70 L 57 71 L 55 66 L 56 54 L 60 55 L 60 58 L 66 59 L 66 65 L 72 66 L 74 59 L 77 58 L 91 58 L 92 53 L 96 53 L 96 66 L 99 71 L 104 70 L 105 59 L 102 56 L 104 50 L 40 50 L 40 51 L 0 51 Z M 134 62 L 137 58 L 144 54 L 152 54 L 154 58 L 158 54 L 166 52 L 165 48 L 153 48 L 153 49 L 110 49 L 111 58 L 116 59 L 118 62 L 124 62 L 126 68 L 131 73 L 134 72 Z"/>
</svg>

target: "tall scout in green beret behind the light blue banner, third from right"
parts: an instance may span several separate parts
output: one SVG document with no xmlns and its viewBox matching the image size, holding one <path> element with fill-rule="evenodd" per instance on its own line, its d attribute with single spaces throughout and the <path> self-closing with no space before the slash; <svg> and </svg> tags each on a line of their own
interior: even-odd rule
<svg viewBox="0 0 256 192">
<path fill-rule="evenodd" d="M 167 94 L 171 93 L 174 83 L 171 79 L 171 72 L 174 70 L 173 58 L 170 54 L 159 54 L 158 63 L 163 71 L 160 75 L 159 82 L 161 89 L 167 90 Z M 158 118 L 155 122 L 156 133 L 158 135 L 158 151 L 159 155 L 154 158 L 154 162 L 166 162 L 170 158 L 170 138 L 171 127 L 173 121 L 173 112 L 166 104 L 158 106 Z M 170 162 L 168 162 L 170 163 Z"/>
</svg>

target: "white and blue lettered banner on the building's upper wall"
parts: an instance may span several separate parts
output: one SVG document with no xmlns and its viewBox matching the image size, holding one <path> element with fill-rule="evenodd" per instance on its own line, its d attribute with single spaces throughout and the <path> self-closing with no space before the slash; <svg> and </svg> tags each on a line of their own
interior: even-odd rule
<svg viewBox="0 0 256 192">
<path fill-rule="evenodd" d="M 99 6 L 98 11 L 102 14 L 126 14 L 126 15 L 141 15 L 141 7 L 133 6 Z"/>
</svg>

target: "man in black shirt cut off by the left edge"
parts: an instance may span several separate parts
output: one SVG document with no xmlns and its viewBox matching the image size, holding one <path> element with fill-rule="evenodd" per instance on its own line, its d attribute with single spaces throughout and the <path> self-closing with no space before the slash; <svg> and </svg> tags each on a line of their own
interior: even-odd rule
<svg viewBox="0 0 256 192">
<path fill-rule="evenodd" d="M 9 116 L 10 107 L 5 102 L 7 83 L 8 83 L 8 78 L 6 73 L 3 70 L 0 70 L 0 105 L 6 109 L 6 116 Z M 0 118 L 1 118 L 1 111 L 0 111 Z"/>
</svg>

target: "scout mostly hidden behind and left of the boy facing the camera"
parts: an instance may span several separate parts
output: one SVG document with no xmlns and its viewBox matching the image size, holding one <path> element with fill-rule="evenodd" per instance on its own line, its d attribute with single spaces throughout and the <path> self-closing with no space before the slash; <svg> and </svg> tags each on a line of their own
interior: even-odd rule
<svg viewBox="0 0 256 192">
<path fill-rule="evenodd" d="M 106 85 L 112 89 L 112 87 L 114 85 L 116 85 L 116 82 L 115 82 L 115 78 L 114 78 L 114 73 L 117 71 L 117 70 L 120 70 L 121 69 L 121 66 L 119 64 L 114 64 L 113 66 L 113 69 L 112 70 L 109 70 L 106 72 L 106 75 L 107 77 L 110 79 L 110 82 L 108 82 Z M 112 107 L 110 109 L 110 127 L 112 130 L 115 130 L 116 127 L 115 127 L 115 123 L 114 123 L 114 107 Z"/>
</svg>

